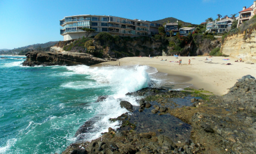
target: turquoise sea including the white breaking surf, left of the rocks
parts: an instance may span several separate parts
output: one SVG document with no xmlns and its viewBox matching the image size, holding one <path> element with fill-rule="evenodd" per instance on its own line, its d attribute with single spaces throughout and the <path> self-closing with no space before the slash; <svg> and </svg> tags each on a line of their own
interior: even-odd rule
<svg viewBox="0 0 256 154">
<path fill-rule="evenodd" d="M 0 57 L 4 57 L 1 56 Z M 61 153 L 88 119 L 97 122 L 84 141 L 96 139 L 125 113 L 118 99 L 148 87 L 149 67 L 22 67 L 24 59 L 0 59 L 0 153 Z M 12 58 L 12 59 L 11 59 Z M 154 73 L 154 72 L 153 72 Z M 100 95 L 114 99 L 95 103 Z"/>
</svg>

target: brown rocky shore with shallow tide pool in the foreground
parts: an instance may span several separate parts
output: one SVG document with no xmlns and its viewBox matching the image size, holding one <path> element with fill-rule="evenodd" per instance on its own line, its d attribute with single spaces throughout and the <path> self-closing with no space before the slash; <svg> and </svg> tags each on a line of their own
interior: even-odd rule
<svg viewBox="0 0 256 154">
<path fill-rule="evenodd" d="M 255 78 L 244 76 L 223 96 L 203 92 L 144 88 L 128 93 L 144 99 L 139 107 L 121 103 L 133 115 L 110 119 L 121 122 L 119 129 L 108 128 L 102 137 L 73 143 L 62 153 L 256 153 Z M 76 135 L 89 126 L 87 121 Z"/>
</svg>

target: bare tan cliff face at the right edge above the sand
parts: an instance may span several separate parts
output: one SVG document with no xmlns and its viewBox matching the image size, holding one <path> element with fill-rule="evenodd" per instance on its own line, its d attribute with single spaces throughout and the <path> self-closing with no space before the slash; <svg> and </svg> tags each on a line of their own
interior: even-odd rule
<svg viewBox="0 0 256 154">
<path fill-rule="evenodd" d="M 250 38 L 244 39 L 244 36 L 245 34 L 238 34 L 227 37 L 222 45 L 222 53 L 256 62 L 256 30 L 252 31 Z"/>
</svg>

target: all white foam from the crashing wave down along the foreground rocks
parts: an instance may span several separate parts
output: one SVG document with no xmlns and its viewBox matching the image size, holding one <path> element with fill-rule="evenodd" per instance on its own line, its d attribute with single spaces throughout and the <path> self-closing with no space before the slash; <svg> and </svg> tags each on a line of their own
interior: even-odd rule
<svg viewBox="0 0 256 154">
<path fill-rule="evenodd" d="M 69 82 L 61 86 L 67 88 L 94 88 L 109 86 L 113 93 L 112 98 L 105 101 L 95 103 L 95 119 L 93 128 L 85 134 L 81 134 L 85 140 L 94 140 L 103 132 L 107 132 L 108 127 L 117 129 L 119 122 L 112 123 L 110 118 L 128 112 L 125 108 L 120 107 L 120 99 L 126 100 L 138 106 L 136 98 L 126 96 L 128 92 L 135 92 L 142 88 L 148 87 L 150 84 L 150 74 L 157 72 L 156 69 L 151 69 L 148 66 L 129 66 L 129 67 L 96 67 L 89 68 L 88 66 L 72 66 L 67 67 L 68 70 L 74 71 L 76 74 L 90 75 L 90 79 L 95 82 Z M 113 99 L 114 98 L 114 99 Z M 80 136 L 79 136 L 80 137 Z"/>
</svg>

